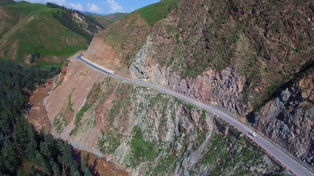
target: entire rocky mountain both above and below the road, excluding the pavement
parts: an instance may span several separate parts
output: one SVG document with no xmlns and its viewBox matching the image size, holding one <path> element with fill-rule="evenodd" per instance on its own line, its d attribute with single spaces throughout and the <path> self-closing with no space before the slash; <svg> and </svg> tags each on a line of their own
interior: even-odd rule
<svg viewBox="0 0 314 176">
<path fill-rule="evenodd" d="M 162 0 L 97 33 L 83 54 L 225 111 L 313 169 L 313 7 Z M 46 98 L 55 136 L 131 176 L 292 175 L 216 115 L 175 97 L 77 60 L 55 85 Z"/>
</svg>

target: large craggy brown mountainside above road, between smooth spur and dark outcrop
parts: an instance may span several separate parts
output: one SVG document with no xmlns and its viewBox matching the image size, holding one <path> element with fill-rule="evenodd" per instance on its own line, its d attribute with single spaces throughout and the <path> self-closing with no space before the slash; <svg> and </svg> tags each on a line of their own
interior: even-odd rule
<svg viewBox="0 0 314 176">
<path fill-rule="evenodd" d="M 154 26 L 131 75 L 248 113 L 313 56 L 312 6 L 181 0 Z"/>
</svg>

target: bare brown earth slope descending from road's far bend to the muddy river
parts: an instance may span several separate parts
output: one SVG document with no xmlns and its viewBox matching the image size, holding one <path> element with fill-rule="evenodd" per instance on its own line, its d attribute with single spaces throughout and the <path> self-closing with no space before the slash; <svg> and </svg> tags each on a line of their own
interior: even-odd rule
<svg viewBox="0 0 314 176">
<path fill-rule="evenodd" d="M 47 102 L 45 104 L 46 109 L 52 123 L 52 134 L 63 140 L 68 140 L 75 148 L 97 154 L 98 156 L 104 156 L 104 154 L 101 154 L 97 148 L 95 148 L 103 125 L 95 119 L 95 111 L 87 111 L 81 119 L 82 122 L 85 122 L 82 125 L 86 125 L 86 121 L 94 124 L 92 128 L 87 127 L 87 129 L 84 130 L 78 129 L 78 135 L 70 135 L 70 132 L 77 126 L 74 115 L 78 113 L 85 103 L 96 100 L 93 96 L 91 96 L 89 100 L 86 98 L 90 91 L 95 90 L 94 83 L 104 81 L 105 77 L 104 74 L 84 65 L 83 63 L 77 60 L 71 60 L 68 66 L 62 68 L 59 80 L 57 80 L 55 84 L 58 86 L 52 90 L 47 98 L 45 98 L 45 102 Z M 59 84 L 59 81 L 61 81 L 62 84 Z M 72 109 L 74 110 L 73 116 L 72 118 L 67 118 L 67 125 L 63 124 L 61 132 L 57 132 L 58 127 L 53 122 L 55 122 L 55 119 L 62 120 L 62 113 L 64 113 L 64 111 L 69 111 L 70 94 Z M 114 160 L 112 160 L 112 162 L 116 163 Z M 120 167 L 118 164 L 115 165 L 115 168 L 118 170 L 123 169 L 123 167 Z"/>
</svg>

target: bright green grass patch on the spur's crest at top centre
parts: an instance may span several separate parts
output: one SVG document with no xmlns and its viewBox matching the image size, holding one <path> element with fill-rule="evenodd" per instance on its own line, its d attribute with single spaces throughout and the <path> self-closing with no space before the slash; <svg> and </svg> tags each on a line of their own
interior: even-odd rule
<svg viewBox="0 0 314 176">
<path fill-rule="evenodd" d="M 180 0 L 164 0 L 136 10 L 150 25 L 165 18 L 178 4 Z"/>
</svg>

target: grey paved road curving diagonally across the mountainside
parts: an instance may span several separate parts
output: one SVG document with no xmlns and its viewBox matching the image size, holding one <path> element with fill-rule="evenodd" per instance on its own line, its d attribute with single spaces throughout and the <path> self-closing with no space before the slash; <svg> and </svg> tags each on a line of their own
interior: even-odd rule
<svg viewBox="0 0 314 176">
<path fill-rule="evenodd" d="M 157 89 L 161 92 L 170 94 L 172 96 L 175 96 L 177 98 L 180 98 L 186 102 L 189 102 L 191 104 L 194 104 L 198 107 L 201 107 L 205 110 L 208 110 L 209 112 L 214 113 L 215 115 L 219 116 L 220 118 L 222 118 L 223 120 L 227 121 L 228 123 L 230 123 L 232 126 L 234 126 L 236 129 L 238 129 L 239 131 L 243 132 L 245 135 L 247 135 L 249 138 L 251 138 L 254 142 L 256 142 L 259 146 L 261 146 L 266 152 L 268 152 L 269 154 L 271 154 L 275 159 L 277 159 L 279 162 L 281 162 L 285 167 L 288 168 L 288 170 L 290 170 L 293 174 L 297 175 L 297 176 L 314 176 L 314 173 L 311 172 L 310 170 L 308 170 L 306 167 L 304 167 L 302 164 L 300 164 L 298 161 L 296 161 L 294 158 L 292 158 L 291 156 L 289 156 L 288 154 L 286 154 L 285 152 L 283 152 L 281 149 L 279 149 L 278 147 L 276 147 L 274 144 L 272 144 L 271 142 L 269 142 L 267 139 L 265 139 L 264 137 L 262 137 L 261 135 L 257 135 L 256 137 L 253 137 L 251 135 L 248 134 L 248 132 L 255 132 L 254 130 L 250 129 L 249 127 L 247 127 L 245 124 L 239 122 L 238 120 L 236 120 L 235 118 L 233 118 L 232 116 L 214 109 L 212 107 L 210 107 L 209 105 L 206 105 L 204 103 L 201 103 L 197 100 L 194 100 L 192 98 L 189 98 L 185 95 L 182 95 L 180 93 L 177 92 L 173 92 L 171 90 L 168 90 L 166 88 L 161 88 L 159 86 L 156 85 L 151 85 L 145 82 L 141 82 L 141 81 L 136 81 L 136 80 L 131 80 L 128 78 L 124 78 L 122 76 L 119 75 L 115 75 L 113 73 L 110 73 L 108 71 L 105 71 L 104 69 L 101 68 L 101 66 L 99 66 L 96 63 L 93 63 L 87 59 L 82 59 L 80 57 L 80 55 L 78 55 L 76 57 L 79 61 L 83 62 L 84 64 L 91 66 L 95 69 L 97 69 L 98 71 L 105 73 L 111 77 L 120 79 L 124 82 L 128 82 L 128 83 L 132 83 L 132 84 L 137 84 L 137 85 L 141 85 L 141 86 L 145 86 L 145 87 L 149 87 L 149 88 L 154 88 Z M 259 134 L 258 132 L 255 132 L 256 134 Z"/>
</svg>

